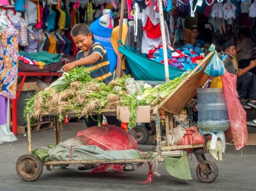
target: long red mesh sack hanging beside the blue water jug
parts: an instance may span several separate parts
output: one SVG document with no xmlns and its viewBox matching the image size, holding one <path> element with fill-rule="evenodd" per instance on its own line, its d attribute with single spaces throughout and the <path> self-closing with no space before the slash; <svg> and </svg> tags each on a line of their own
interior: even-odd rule
<svg viewBox="0 0 256 191">
<path fill-rule="evenodd" d="M 230 74 L 227 70 L 222 75 L 223 92 L 229 112 L 231 127 L 225 131 L 225 137 L 228 142 L 234 141 L 236 150 L 246 145 L 248 131 L 246 126 L 246 112 L 241 106 L 236 91 L 237 76 Z"/>
</svg>

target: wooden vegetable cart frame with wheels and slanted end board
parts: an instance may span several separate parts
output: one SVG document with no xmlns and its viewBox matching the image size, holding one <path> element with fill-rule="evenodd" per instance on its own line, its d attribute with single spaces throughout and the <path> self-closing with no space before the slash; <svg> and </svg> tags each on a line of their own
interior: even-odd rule
<svg viewBox="0 0 256 191">
<path fill-rule="evenodd" d="M 215 163 L 206 160 L 204 153 L 206 151 L 205 145 L 181 145 L 181 146 L 162 146 L 161 145 L 161 130 L 160 130 L 160 110 L 165 110 L 165 132 L 169 134 L 170 128 L 174 128 L 174 117 L 173 114 L 179 114 L 181 110 L 189 103 L 189 101 L 196 94 L 196 89 L 204 85 L 208 79 L 208 76 L 204 74 L 204 68 L 207 65 L 209 59 L 213 52 L 209 53 L 207 57 L 200 62 L 200 64 L 190 73 L 188 76 L 177 86 L 175 90 L 162 102 L 159 104 L 158 108 L 154 110 L 154 119 L 156 123 L 156 150 L 158 162 L 162 162 L 162 154 L 165 152 L 173 150 L 193 150 L 199 165 L 196 169 L 197 177 L 202 182 L 212 182 L 215 181 L 218 176 L 218 167 Z M 103 111 L 103 115 L 113 115 L 116 111 Z M 77 113 L 65 113 L 64 115 L 72 116 Z M 59 118 L 57 114 L 54 113 L 41 113 L 41 115 L 51 115 L 55 116 L 56 125 L 56 144 L 60 142 L 59 135 Z M 129 164 L 129 163 L 147 163 L 152 162 L 153 159 L 132 159 L 132 160 L 68 160 L 68 161 L 47 161 L 41 162 L 38 157 L 31 153 L 31 125 L 29 122 L 29 113 L 27 113 L 27 139 L 28 139 L 28 154 L 22 155 L 16 164 L 17 174 L 25 181 L 37 180 L 42 171 L 43 166 L 46 166 L 50 170 L 50 165 L 57 164 Z"/>
</svg>

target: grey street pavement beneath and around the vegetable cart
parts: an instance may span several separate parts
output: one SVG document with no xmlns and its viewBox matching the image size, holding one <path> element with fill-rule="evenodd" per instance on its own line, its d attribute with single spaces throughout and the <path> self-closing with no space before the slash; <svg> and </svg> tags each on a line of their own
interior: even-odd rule
<svg viewBox="0 0 256 191">
<path fill-rule="evenodd" d="M 61 141 L 74 138 L 77 131 L 84 129 L 84 123 L 71 123 L 63 127 Z M 55 143 L 54 129 L 34 132 L 33 148 L 40 148 Z M 255 190 L 256 147 L 246 146 L 236 151 L 233 145 L 227 145 L 222 162 L 216 162 L 219 175 L 213 183 L 201 183 L 195 174 L 197 161 L 189 157 L 191 181 L 178 180 L 165 171 L 164 164 L 159 164 L 161 177 L 154 176 L 151 184 L 142 184 L 147 178 L 147 166 L 135 168 L 133 172 L 90 174 L 89 171 L 78 171 L 77 166 L 66 169 L 47 171 L 44 167 L 40 178 L 26 182 L 19 178 L 15 171 L 17 159 L 27 153 L 27 137 L 18 136 L 18 141 L 0 145 L 0 190 Z M 206 154 L 208 160 L 213 160 Z"/>
</svg>

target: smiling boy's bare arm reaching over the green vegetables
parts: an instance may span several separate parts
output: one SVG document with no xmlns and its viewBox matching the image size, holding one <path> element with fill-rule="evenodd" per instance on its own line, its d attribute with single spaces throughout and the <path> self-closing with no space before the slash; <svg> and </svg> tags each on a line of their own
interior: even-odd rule
<svg viewBox="0 0 256 191">
<path fill-rule="evenodd" d="M 63 66 L 63 71 L 69 72 L 76 66 L 84 66 L 84 65 L 88 65 L 88 64 L 93 64 L 93 63 L 97 62 L 99 59 L 102 59 L 102 57 L 98 53 L 93 53 L 87 57 L 80 59 L 80 60 L 76 60 L 74 62 L 65 64 Z"/>
</svg>

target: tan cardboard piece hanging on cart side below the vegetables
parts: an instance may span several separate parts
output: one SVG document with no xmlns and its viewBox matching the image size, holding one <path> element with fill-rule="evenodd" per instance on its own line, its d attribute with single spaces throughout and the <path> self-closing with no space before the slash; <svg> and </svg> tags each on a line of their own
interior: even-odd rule
<svg viewBox="0 0 256 191">
<path fill-rule="evenodd" d="M 150 110 L 151 106 L 139 106 L 137 108 L 137 123 L 149 123 L 150 122 Z M 121 122 L 129 123 L 130 111 L 127 106 L 119 106 L 117 107 L 117 118 L 121 120 Z"/>
</svg>

